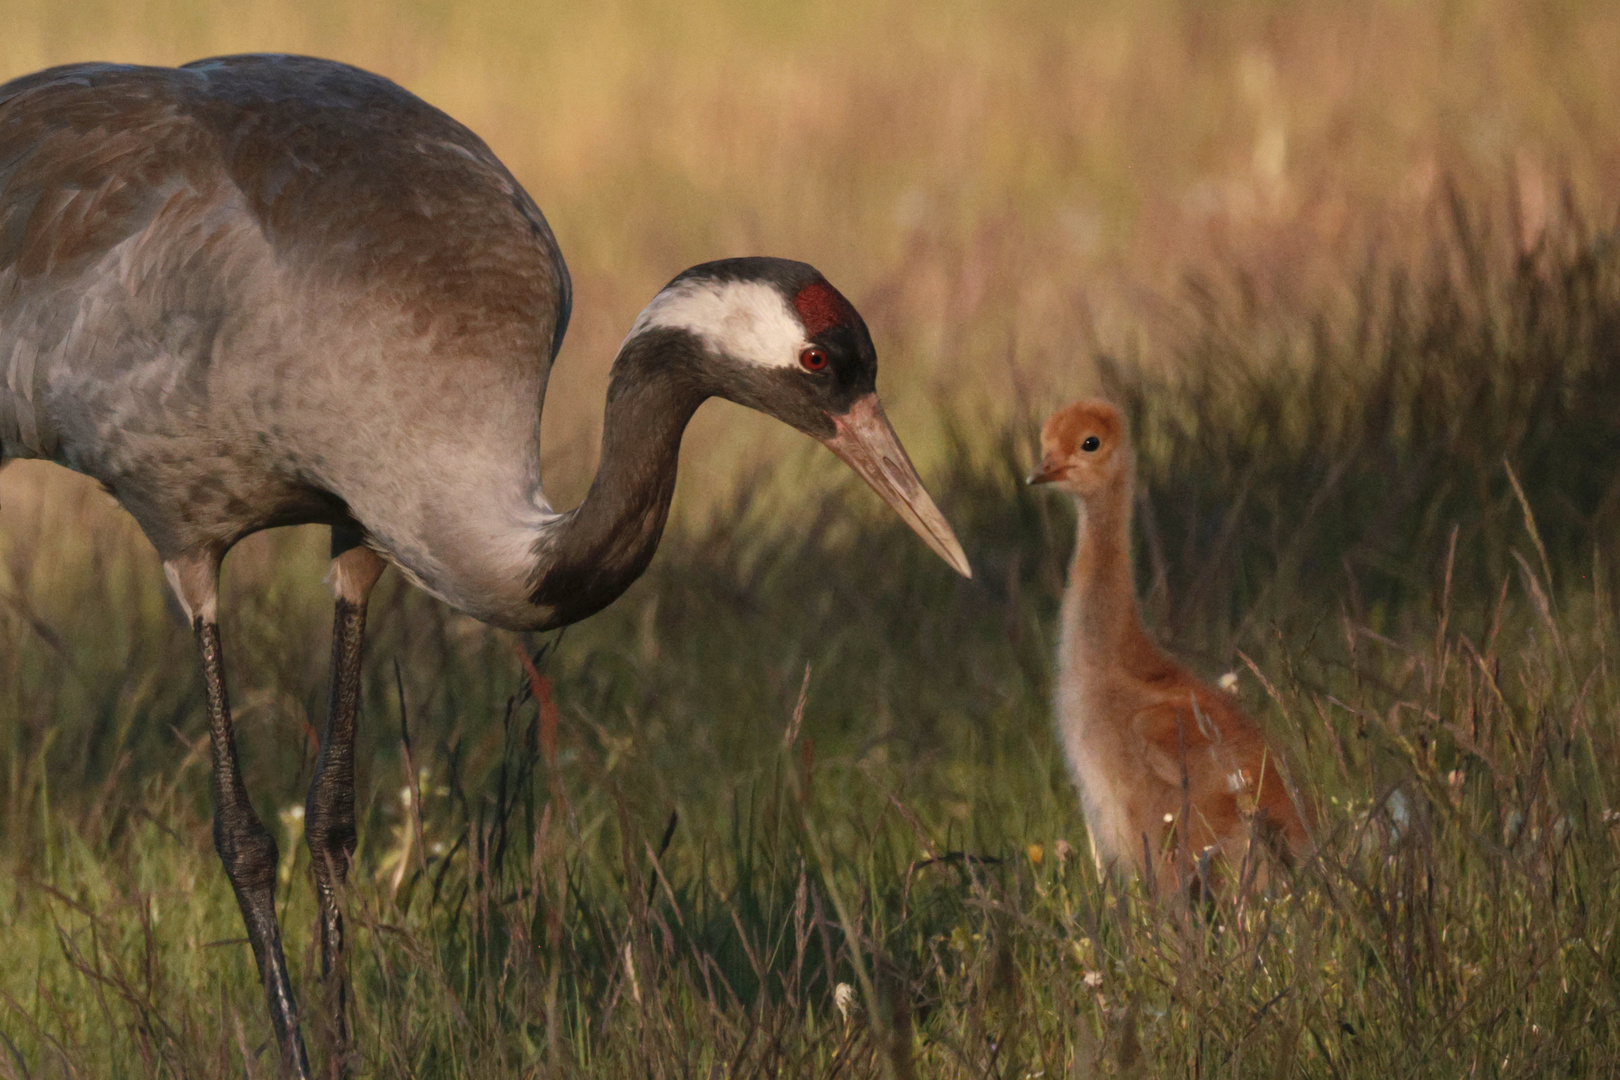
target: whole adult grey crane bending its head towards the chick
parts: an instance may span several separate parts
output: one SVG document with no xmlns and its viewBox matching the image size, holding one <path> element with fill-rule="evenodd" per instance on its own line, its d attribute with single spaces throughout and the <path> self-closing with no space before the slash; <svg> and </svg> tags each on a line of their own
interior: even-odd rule
<svg viewBox="0 0 1620 1080">
<path fill-rule="evenodd" d="M 646 568 L 682 431 L 721 397 L 820 439 L 969 573 L 885 419 L 865 322 L 784 259 L 695 266 L 653 298 L 614 359 L 590 492 L 554 510 L 539 416 L 569 311 L 528 193 L 376 74 L 246 55 L 0 86 L 0 463 L 94 476 L 162 557 L 201 653 L 214 844 L 300 1080 L 275 840 L 225 695 L 219 572 L 237 541 L 332 529 L 332 693 L 305 834 L 339 1059 L 361 643 L 387 565 L 497 627 L 585 619 Z"/>
</svg>

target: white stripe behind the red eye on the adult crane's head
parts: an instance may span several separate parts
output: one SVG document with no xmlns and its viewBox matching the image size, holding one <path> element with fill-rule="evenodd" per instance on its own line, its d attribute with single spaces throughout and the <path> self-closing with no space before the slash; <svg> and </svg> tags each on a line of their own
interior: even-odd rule
<svg viewBox="0 0 1620 1080">
<path fill-rule="evenodd" d="M 805 329 L 782 295 L 760 282 L 680 282 L 666 288 L 630 327 L 687 330 L 711 350 L 760 368 L 795 368 Z"/>
</svg>

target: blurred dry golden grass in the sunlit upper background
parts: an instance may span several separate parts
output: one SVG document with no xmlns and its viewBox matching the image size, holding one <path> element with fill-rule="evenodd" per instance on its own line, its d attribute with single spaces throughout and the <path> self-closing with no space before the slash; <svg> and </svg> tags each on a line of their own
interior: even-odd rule
<svg viewBox="0 0 1620 1080">
<path fill-rule="evenodd" d="M 1607 3 L 753 5 L 11 0 L 0 78 L 52 63 L 306 52 L 381 71 L 483 134 L 578 285 L 548 416 L 583 491 L 608 364 L 703 259 L 818 264 L 865 313 L 902 429 L 938 385 L 1059 397 L 1085 345 L 1157 358 L 1153 300 L 1233 266 L 1288 306 L 1403 257 L 1447 178 L 1508 188 L 1533 238 L 1568 180 L 1620 188 Z M 705 410 L 685 502 L 787 432 Z M 701 479 L 690 479 L 700 476 Z M 18 481 L 8 478 L 11 484 Z"/>
</svg>

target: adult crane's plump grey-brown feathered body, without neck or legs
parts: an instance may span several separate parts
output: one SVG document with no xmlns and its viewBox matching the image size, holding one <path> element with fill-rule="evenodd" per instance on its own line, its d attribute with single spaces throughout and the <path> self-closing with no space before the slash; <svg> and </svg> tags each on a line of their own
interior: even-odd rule
<svg viewBox="0 0 1620 1080">
<path fill-rule="evenodd" d="M 379 76 L 225 57 L 0 87 L 0 460 L 102 481 L 165 560 L 358 526 L 496 615 L 552 517 L 569 309 L 517 180 Z"/>
</svg>

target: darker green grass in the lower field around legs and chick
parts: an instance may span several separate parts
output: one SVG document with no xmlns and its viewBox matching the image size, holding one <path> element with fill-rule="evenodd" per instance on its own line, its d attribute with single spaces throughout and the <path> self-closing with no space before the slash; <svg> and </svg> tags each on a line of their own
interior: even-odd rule
<svg viewBox="0 0 1620 1080">
<path fill-rule="evenodd" d="M 1184 374 L 1100 358 L 1150 620 L 1239 672 L 1319 819 L 1277 897 L 1098 878 L 1047 706 L 1069 510 L 1017 481 L 1032 415 L 941 406 L 972 583 L 854 481 L 802 494 L 820 450 L 561 640 L 386 580 L 361 1075 L 1614 1075 L 1620 248 L 1571 225 L 1508 257 L 1458 209 L 1346 291 L 1202 283 L 1162 330 Z M 190 636 L 117 512 L 36 491 L 0 549 L 0 1077 L 274 1075 Z M 279 811 L 324 699 L 322 549 L 254 539 L 224 606 L 308 1006 Z"/>
</svg>

